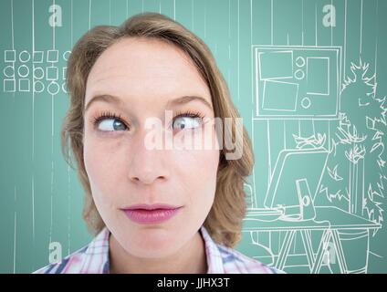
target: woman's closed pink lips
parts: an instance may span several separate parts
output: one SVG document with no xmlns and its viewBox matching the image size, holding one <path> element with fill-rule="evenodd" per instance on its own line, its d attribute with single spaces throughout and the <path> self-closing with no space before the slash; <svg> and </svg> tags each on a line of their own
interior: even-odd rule
<svg viewBox="0 0 387 292">
<path fill-rule="evenodd" d="M 161 224 L 171 219 L 181 207 L 168 204 L 136 204 L 121 209 L 131 221 L 138 224 Z"/>
</svg>

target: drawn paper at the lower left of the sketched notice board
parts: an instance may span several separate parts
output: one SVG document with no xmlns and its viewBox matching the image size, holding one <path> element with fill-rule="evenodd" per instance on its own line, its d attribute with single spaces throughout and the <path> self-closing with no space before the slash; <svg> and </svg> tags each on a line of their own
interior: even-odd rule
<svg viewBox="0 0 387 292">
<path fill-rule="evenodd" d="M 294 111 L 298 97 L 298 84 L 276 80 L 265 80 L 264 104 L 265 110 Z"/>
</svg>

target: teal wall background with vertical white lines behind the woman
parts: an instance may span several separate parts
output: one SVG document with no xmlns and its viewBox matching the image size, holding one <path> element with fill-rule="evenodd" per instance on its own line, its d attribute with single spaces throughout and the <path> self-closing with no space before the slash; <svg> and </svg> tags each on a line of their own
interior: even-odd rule
<svg viewBox="0 0 387 292">
<path fill-rule="evenodd" d="M 61 7 L 62 26 L 49 25 L 49 7 L 53 4 Z M 324 26 L 324 5 L 336 8 L 336 26 Z M 148 11 L 176 19 L 211 48 L 254 143 L 256 166 L 246 183 L 250 212 L 265 206 L 280 151 L 323 149 L 329 152 L 323 169 L 305 157 L 293 164 L 288 162 L 294 172 L 309 170 L 310 181 L 321 177 L 319 189 L 311 190 L 314 204 L 328 208 L 324 210 L 341 210 L 327 213 L 327 222 L 330 229 L 340 222 L 340 228 L 347 230 L 339 230 L 338 234 L 346 270 L 340 269 L 338 261 L 327 264 L 324 260 L 315 272 L 385 273 L 383 108 L 387 105 L 383 107 L 378 101 L 387 94 L 384 0 L 2 0 L 0 273 L 30 273 L 47 265 L 50 243 L 59 243 L 62 256 L 66 256 L 91 239 L 81 219 L 83 193 L 77 173 L 64 162 L 60 151 L 59 131 L 68 109 L 68 95 L 62 88 L 64 53 L 90 27 L 120 25 L 127 17 Z M 338 48 L 340 57 L 330 65 L 336 66 L 340 74 L 336 84 L 333 78 L 330 86 L 336 86 L 340 94 L 329 97 L 333 101 L 324 99 L 327 103 L 322 102 L 317 111 L 309 111 L 306 117 L 298 115 L 302 111 L 299 109 L 275 119 L 270 110 L 259 111 L 262 104 L 257 97 L 255 52 L 262 51 L 263 46 L 272 47 L 273 51 L 276 46 L 293 47 L 290 49 L 294 51 L 297 47 L 317 47 L 318 51 L 321 47 Z M 58 62 L 51 58 L 50 54 L 55 53 L 48 53 L 49 50 L 58 50 Z M 15 51 L 15 60 L 8 51 Z M 43 52 L 42 63 L 33 62 L 34 51 Z M 31 58 L 26 60 L 28 56 Z M 37 53 L 36 61 L 38 57 Z M 281 63 L 275 59 L 269 64 L 272 68 L 268 70 L 281 70 Z M 41 69 L 37 68 L 44 70 L 42 79 Z M 323 69 L 320 74 L 310 81 L 315 82 L 314 88 L 319 88 L 319 82 L 326 82 Z M 295 82 L 294 78 L 291 80 Z M 279 96 L 289 92 L 288 87 L 273 90 Z M 368 106 L 359 106 L 358 100 Z M 278 102 L 276 106 L 281 107 Z M 288 107 L 288 99 L 283 102 Z M 293 178 L 283 175 L 288 183 L 285 189 L 288 185 L 289 193 L 296 190 L 292 189 Z M 287 204 L 286 200 L 283 203 Z M 362 224 L 357 223 L 359 218 L 364 220 Z M 314 230 L 310 227 L 314 226 L 313 221 L 306 225 L 306 234 L 292 235 L 289 256 L 282 265 L 288 273 L 310 272 L 303 236 L 310 237 L 312 258 L 318 257 L 322 232 L 327 228 Z M 279 220 L 247 220 L 237 249 L 276 265 L 284 238 L 293 227 Z"/>
</svg>

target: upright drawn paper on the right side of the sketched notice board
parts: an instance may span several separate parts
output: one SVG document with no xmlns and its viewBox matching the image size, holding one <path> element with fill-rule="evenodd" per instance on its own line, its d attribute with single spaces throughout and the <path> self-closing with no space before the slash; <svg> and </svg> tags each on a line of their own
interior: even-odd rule
<svg viewBox="0 0 387 292">
<path fill-rule="evenodd" d="M 307 94 L 329 95 L 329 57 L 307 57 Z"/>
</svg>

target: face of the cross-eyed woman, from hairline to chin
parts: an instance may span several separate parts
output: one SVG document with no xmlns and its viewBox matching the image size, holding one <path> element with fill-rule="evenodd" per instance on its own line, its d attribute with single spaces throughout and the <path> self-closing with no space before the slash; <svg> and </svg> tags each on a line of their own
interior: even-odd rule
<svg viewBox="0 0 387 292">
<path fill-rule="evenodd" d="M 150 149 L 146 141 L 154 128 L 146 124 L 161 121 L 164 145 L 177 136 L 213 139 L 214 127 L 195 119 L 214 118 L 207 85 L 179 48 L 156 39 L 124 38 L 91 69 L 85 104 L 84 161 L 103 221 L 131 255 L 173 255 L 193 238 L 211 209 L 219 150 Z M 172 110 L 172 117 L 166 110 Z M 129 210 L 156 203 L 177 209 Z"/>
</svg>

